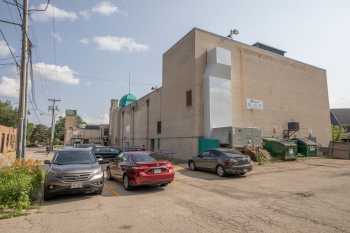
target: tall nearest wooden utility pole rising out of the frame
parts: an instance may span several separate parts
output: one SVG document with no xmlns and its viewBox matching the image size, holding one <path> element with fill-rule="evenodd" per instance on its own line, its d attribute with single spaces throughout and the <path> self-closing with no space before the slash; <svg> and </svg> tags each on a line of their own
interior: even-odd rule
<svg viewBox="0 0 350 233">
<path fill-rule="evenodd" d="M 20 72 L 20 89 L 19 89 L 19 104 L 18 104 L 18 124 L 17 124 L 17 143 L 16 143 L 16 158 L 24 159 L 25 148 L 25 127 L 27 117 L 27 62 L 28 62 L 28 0 L 23 0 L 23 22 L 22 22 L 22 54 L 21 54 L 21 72 Z"/>
</svg>

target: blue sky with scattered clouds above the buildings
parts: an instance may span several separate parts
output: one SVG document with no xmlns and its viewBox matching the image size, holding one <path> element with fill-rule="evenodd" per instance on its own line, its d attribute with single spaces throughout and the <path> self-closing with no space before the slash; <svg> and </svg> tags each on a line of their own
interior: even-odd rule
<svg viewBox="0 0 350 233">
<path fill-rule="evenodd" d="M 327 69 L 331 107 L 350 107 L 349 12 L 347 0 L 52 0 L 30 20 L 35 99 L 43 113 L 32 110 L 30 119 L 48 124 L 47 99 L 56 97 L 61 114 L 73 108 L 89 123 L 107 121 L 110 99 L 128 92 L 129 73 L 137 97 L 160 86 L 163 52 L 193 27 L 220 35 L 237 28 L 239 41 L 264 42 Z M 0 18 L 18 14 L 0 2 Z M 20 30 L 0 28 L 19 55 Z M 8 57 L 0 38 L 0 64 Z M 18 102 L 17 76 L 14 66 L 0 65 L 1 99 Z"/>
</svg>

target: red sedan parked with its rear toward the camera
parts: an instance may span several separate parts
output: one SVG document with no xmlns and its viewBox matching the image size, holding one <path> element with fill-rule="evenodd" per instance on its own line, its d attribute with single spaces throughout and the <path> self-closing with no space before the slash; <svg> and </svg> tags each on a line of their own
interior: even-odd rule
<svg viewBox="0 0 350 233">
<path fill-rule="evenodd" d="M 123 181 L 126 190 L 141 185 L 166 186 L 174 180 L 174 167 L 169 161 L 157 161 L 152 152 L 128 151 L 119 154 L 106 168 L 107 179 Z"/>
</svg>

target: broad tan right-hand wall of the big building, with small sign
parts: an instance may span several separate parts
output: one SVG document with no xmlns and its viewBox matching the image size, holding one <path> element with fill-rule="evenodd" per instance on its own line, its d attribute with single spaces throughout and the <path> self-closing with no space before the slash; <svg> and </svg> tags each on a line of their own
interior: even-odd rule
<svg viewBox="0 0 350 233">
<path fill-rule="evenodd" d="M 300 123 L 298 136 L 310 132 L 327 146 L 331 136 L 326 71 L 231 39 L 196 30 L 197 79 L 203 76 L 205 54 L 215 47 L 232 52 L 233 127 L 259 127 L 263 135 L 282 136 L 288 121 Z M 264 102 L 248 110 L 246 98 Z M 203 105 L 200 105 L 203 106 Z"/>
</svg>

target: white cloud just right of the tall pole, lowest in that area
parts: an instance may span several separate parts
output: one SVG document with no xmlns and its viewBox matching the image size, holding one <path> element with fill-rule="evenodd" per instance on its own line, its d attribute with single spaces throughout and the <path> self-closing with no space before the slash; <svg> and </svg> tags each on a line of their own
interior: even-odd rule
<svg viewBox="0 0 350 233">
<path fill-rule="evenodd" d="M 79 84 L 79 78 L 76 77 L 76 72 L 69 66 L 58 66 L 45 63 L 36 63 L 33 65 L 34 71 L 40 78 L 54 80 L 70 85 Z"/>
</svg>

